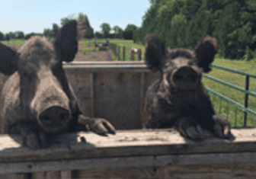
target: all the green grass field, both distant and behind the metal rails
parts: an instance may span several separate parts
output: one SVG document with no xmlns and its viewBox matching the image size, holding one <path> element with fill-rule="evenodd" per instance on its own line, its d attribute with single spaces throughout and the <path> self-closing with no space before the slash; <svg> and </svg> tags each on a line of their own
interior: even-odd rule
<svg viewBox="0 0 256 179">
<path fill-rule="evenodd" d="M 98 43 L 105 43 L 105 40 L 97 40 Z M 4 42 L 11 46 L 19 46 L 25 43 L 25 40 L 10 40 L 9 42 Z M 94 46 L 94 40 L 85 40 L 85 43 L 91 44 L 91 47 Z M 117 46 L 126 46 L 126 60 L 130 60 L 130 49 L 133 46 L 134 48 L 139 48 L 142 50 L 142 60 L 144 60 L 144 50 L 145 47 L 139 44 L 134 44 L 133 40 L 110 40 L 110 43 L 115 43 Z M 120 50 L 121 51 L 121 50 Z M 91 50 L 85 51 L 84 54 L 91 53 Z M 114 52 L 110 52 L 114 56 Z M 120 56 L 123 56 L 122 52 L 120 52 Z M 117 60 L 117 56 L 114 56 L 114 59 Z M 137 57 L 135 57 L 137 60 Z M 253 59 L 249 62 L 242 60 L 230 60 L 230 59 L 221 59 L 216 56 L 214 62 L 216 66 L 223 66 L 229 69 L 237 69 L 243 72 L 249 72 L 251 74 L 256 74 L 256 59 Z M 214 78 L 221 79 L 225 82 L 229 82 L 233 85 L 237 85 L 239 87 L 245 88 L 245 75 L 238 75 L 232 72 L 226 72 L 222 69 L 213 68 L 212 72 L 209 74 Z M 208 78 L 203 78 L 203 85 L 207 88 L 212 89 L 226 97 L 229 97 L 233 101 L 238 102 L 239 104 L 245 104 L 245 94 L 241 91 L 238 91 L 233 88 L 229 88 L 226 85 L 219 84 L 218 82 L 214 82 Z M 250 86 L 249 91 L 256 92 L 256 79 L 250 78 Z M 232 127 L 240 127 L 243 126 L 243 112 L 239 110 L 237 107 L 229 104 L 226 101 L 223 101 L 219 97 L 216 97 L 213 94 L 210 94 L 210 97 L 213 101 L 214 109 L 216 113 L 221 113 L 222 115 L 229 118 L 229 121 Z M 248 97 L 248 108 L 256 111 L 256 98 L 249 95 Z M 251 114 L 247 116 L 247 126 L 256 126 L 256 117 L 253 117 Z"/>
</svg>

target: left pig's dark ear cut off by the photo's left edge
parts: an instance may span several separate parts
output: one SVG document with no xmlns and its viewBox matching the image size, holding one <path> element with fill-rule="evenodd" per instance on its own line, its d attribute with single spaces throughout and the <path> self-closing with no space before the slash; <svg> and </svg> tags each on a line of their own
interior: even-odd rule
<svg viewBox="0 0 256 179">
<path fill-rule="evenodd" d="M 18 62 L 18 53 L 11 46 L 0 43 L 0 72 L 5 75 L 11 75 L 16 70 Z"/>
</svg>

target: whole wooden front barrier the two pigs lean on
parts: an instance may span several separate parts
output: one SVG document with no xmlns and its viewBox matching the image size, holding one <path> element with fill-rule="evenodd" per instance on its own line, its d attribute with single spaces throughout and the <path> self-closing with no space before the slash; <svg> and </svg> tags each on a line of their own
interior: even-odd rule
<svg viewBox="0 0 256 179">
<path fill-rule="evenodd" d="M 193 142 L 173 129 L 66 133 L 40 150 L 23 147 L 21 136 L 3 134 L 0 178 L 256 177 L 256 129 L 232 129 L 232 134 L 234 141 Z"/>
</svg>

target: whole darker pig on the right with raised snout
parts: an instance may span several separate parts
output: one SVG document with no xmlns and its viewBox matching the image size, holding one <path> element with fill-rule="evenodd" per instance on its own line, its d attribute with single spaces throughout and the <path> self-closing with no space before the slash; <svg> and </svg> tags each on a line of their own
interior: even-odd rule
<svg viewBox="0 0 256 179">
<path fill-rule="evenodd" d="M 145 37 L 145 59 L 149 69 L 160 71 L 161 77 L 146 94 L 146 128 L 175 126 L 182 136 L 205 139 L 211 136 L 231 139 L 226 117 L 216 115 L 210 96 L 201 82 L 210 72 L 217 51 L 217 41 L 207 35 L 194 50 L 167 50 L 154 34 Z"/>
</svg>

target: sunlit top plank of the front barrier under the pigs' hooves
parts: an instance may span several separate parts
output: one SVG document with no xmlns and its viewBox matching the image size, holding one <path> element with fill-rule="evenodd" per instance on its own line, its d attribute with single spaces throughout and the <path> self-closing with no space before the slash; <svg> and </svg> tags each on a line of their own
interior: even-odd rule
<svg viewBox="0 0 256 179">
<path fill-rule="evenodd" d="M 184 139 L 177 131 L 171 129 L 120 130 L 115 136 L 98 136 L 83 132 L 66 133 L 56 136 L 50 149 L 41 150 L 21 147 L 21 136 L 4 134 L 0 136 L 0 163 L 62 158 L 256 152 L 255 128 L 232 129 L 232 134 L 236 138 L 235 141 L 213 138 L 194 142 Z M 79 142 L 81 137 L 85 137 L 86 143 Z"/>
</svg>

